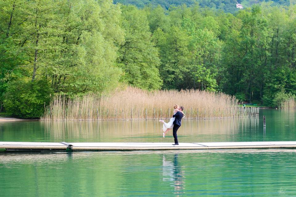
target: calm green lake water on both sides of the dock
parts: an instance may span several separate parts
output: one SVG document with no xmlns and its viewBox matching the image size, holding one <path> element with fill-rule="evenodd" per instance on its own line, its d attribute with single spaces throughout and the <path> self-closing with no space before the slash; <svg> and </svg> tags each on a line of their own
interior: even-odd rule
<svg viewBox="0 0 296 197">
<path fill-rule="evenodd" d="M 262 116 L 266 116 L 266 129 Z M 179 142 L 296 141 L 295 110 L 183 120 Z M 158 121 L 0 122 L 0 141 L 171 142 Z M 0 152 L 2 196 L 296 196 L 296 149 Z"/>
</svg>

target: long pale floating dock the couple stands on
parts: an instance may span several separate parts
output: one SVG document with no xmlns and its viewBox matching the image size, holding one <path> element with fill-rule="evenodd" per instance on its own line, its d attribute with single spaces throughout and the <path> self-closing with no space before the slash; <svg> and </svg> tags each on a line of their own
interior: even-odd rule
<svg viewBox="0 0 296 197">
<path fill-rule="evenodd" d="M 296 148 L 296 141 L 279 142 L 205 142 L 205 143 L 52 143 L 52 142 L 0 142 L 6 151 L 140 151 L 140 150 L 199 150 Z"/>
</svg>

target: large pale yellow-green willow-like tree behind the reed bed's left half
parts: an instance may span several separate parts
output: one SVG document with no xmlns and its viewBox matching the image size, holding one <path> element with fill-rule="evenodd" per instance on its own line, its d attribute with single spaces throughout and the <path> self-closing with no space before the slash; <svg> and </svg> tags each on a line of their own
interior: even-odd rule
<svg viewBox="0 0 296 197">
<path fill-rule="evenodd" d="M 121 70 L 115 66 L 124 41 L 121 10 L 111 1 L 62 1 L 57 43 L 43 72 L 55 92 L 84 94 L 117 86 Z"/>
</svg>

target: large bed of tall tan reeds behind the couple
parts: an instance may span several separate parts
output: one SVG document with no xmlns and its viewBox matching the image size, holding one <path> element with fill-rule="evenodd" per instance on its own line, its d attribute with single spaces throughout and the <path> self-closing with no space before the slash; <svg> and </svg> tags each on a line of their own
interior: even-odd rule
<svg viewBox="0 0 296 197">
<path fill-rule="evenodd" d="M 238 107 L 238 100 L 224 93 L 200 90 L 154 90 L 134 87 L 113 94 L 87 94 L 66 99 L 55 96 L 42 120 L 167 119 L 173 106 L 185 107 L 186 118 L 210 119 L 257 115 L 256 108 Z"/>
</svg>

